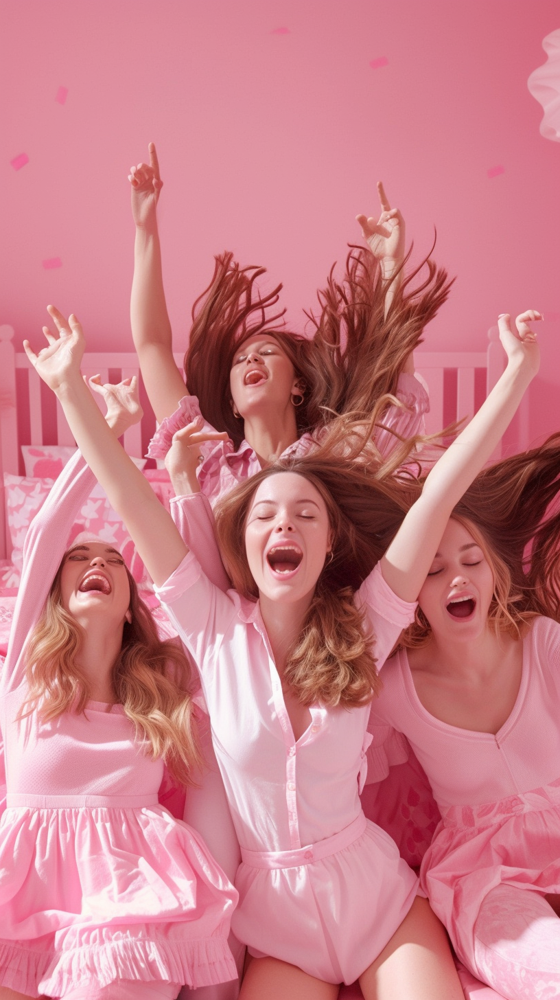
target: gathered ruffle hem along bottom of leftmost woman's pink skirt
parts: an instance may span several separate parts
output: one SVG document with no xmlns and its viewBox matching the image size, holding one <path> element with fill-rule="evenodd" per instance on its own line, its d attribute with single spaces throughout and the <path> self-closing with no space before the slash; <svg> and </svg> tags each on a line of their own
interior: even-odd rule
<svg viewBox="0 0 560 1000">
<path fill-rule="evenodd" d="M 77 985 L 108 986 L 117 979 L 183 983 L 193 989 L 237 978 L 224 937 L 201 941 L 105 942 L 66 952 L 0 944 L 0 984 L 28 996 L 64 996 Z"/>
</svg>

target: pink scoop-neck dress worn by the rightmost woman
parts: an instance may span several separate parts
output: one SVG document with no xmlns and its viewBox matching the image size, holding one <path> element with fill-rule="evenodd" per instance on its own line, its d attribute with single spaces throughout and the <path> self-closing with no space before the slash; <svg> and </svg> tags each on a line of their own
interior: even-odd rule
<svg viewBox="0 0 560 1000">
<path fill-rule="evenodd" d="M 495 735 L 430 715 L 403 651 L 383 669 L 368 728 L 369 777 L 408 741 L 431 782 L 442 818 L 421 884 L 459 957 L 505 997 L 560 997 L 560 919 L 545 899 L 560 894 L 560 625 L 537 618 L 525 636 L 517 700 Z"/>
</svg>

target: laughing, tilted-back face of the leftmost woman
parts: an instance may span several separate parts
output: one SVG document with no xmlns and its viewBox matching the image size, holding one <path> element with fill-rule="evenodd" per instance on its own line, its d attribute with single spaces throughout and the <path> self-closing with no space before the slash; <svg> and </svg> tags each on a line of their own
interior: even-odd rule
<svg viewBox="0 0 560 1000">
<path fill-rule="evenodd" d="M 76 619 L 102 609 L 119 622 L 124 620 L 130 604 L 124 559 L 104 542 L 83 542 L 68 550 L 60 589 L 62 606 Z"/>
</svg>

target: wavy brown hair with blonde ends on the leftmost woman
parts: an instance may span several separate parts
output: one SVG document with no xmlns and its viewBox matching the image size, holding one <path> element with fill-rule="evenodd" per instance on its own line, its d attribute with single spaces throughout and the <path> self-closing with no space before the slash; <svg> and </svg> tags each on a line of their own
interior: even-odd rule
<svg viewBox="0 0 560 1000">
<path fill-rule="evenodd" d="M 77 663 L 82 628 L 62 605 L 64 559 L 27 645 L 29 696 L 21 717 L 35 708 L 45 720 L 70 710 L 83 712 L 91 698 L 87 678 Z M 132 622 L 124 623 L 121 650 L 113 665 L 115 695 L 146 752 L 154 759 L 162 757 L 181 783 L 192 784 L 192 769 L 201 766 L 202 756 L 193 717 L 190 664 L 180 645 L 159 638 L 128 568 L 126 573 Z"/>
</svg>

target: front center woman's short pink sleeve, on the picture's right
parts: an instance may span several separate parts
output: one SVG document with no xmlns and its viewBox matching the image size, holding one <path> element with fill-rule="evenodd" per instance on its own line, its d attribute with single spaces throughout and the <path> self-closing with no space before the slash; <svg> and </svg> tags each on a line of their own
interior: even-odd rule
<svg viewBox="0 0 560 1000">
<path fill-rule="evenodd" d="M 393 593 L 377 563 L 356 594 L 358 606 L 365 605 L 369 626 L 375 636 L 374 654 L 380 670 L 390 656 L 402 630 L 414 621 L 416 602 L 410 604 Z"/>
</svg>

